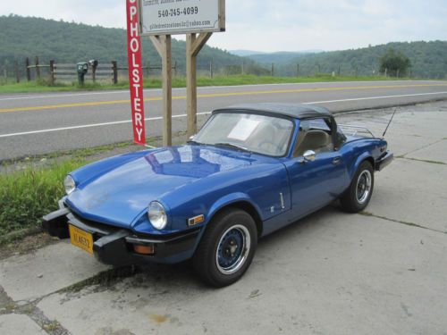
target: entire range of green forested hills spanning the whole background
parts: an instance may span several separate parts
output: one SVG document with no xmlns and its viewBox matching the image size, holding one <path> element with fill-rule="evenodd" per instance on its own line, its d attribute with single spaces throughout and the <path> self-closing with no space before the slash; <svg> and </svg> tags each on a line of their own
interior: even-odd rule
<svg viewBox="0 0 447 335">
<path fill-rule="evenodd" d="M 252 57 L 240 57 L 205 46 L 198 55 L 198 71 L 209 71 L 213 60 L 215 72 L 226 74 L 240 73 L 242 63 L 246 73 L 269 74 L 274 63 L 275 75 L 295 76 L 297 64 L 302 76 L 317 71 L 337 73 L 339 69 L 342 75 L 372 75 L 378 73 L 379 59 L 389 48 L 409 57 L 412 77 L 447 79 L 447 41 L 389 43 L 316 54 L 274 53 Z M 0 16 L 0 71 L 6 65 L 12 73 L 13 62 L 17 60 L 23 72 L 24 58 L 36 55 L 41 63 L 97 59 L 100 63 L 115 60 L 118 66 L 126 66 L 126 31 L 17 15 Z M 173 62 L 177 62 L 180 73 L 185 72 L 185 57 L 185 42 L 173 39 Z M 152 65 L 161 63 L 148 38 L 143 38 L 143 61 Z"/>
</svg>

